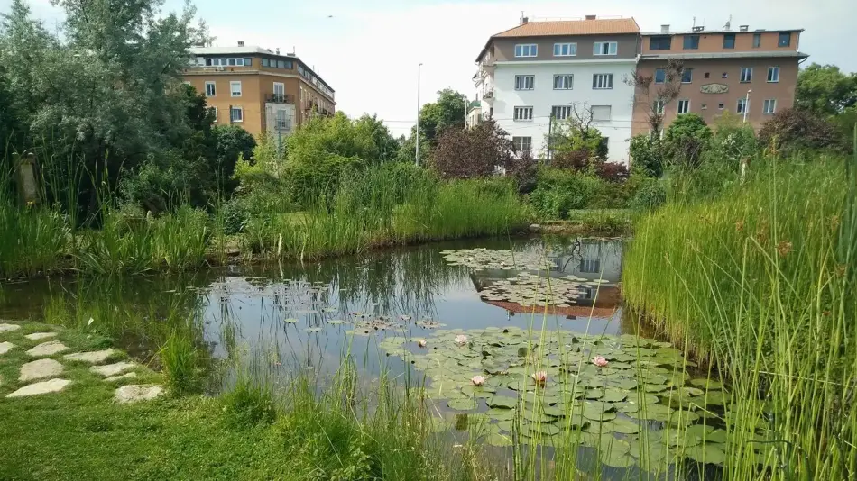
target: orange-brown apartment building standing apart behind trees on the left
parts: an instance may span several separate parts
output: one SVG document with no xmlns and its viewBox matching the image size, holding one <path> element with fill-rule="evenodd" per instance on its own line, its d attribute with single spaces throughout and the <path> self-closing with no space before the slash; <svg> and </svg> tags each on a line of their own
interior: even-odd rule
<svg viewBox="0 0 857 481">
<path fill-rule="evenodd" d="M 184 80 L 206 95 L 215 123 L 285 136 L 311 115 L 332 115 L 334 90 L 294 55 L 260 47 L 197 47 Z"/>
</svg>

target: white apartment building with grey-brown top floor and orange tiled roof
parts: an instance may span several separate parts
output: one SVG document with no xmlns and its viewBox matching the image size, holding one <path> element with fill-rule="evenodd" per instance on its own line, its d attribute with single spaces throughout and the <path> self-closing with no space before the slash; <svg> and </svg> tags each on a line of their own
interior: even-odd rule
<svg viewBox="0 0 857 481">
<path fill-rule="evenodd" d="M 551 123 L 591 112 L 607 157 L 628 162 L 640 27 L 632 18 L 530 22 L 492 35 L 476 58 L 481 113 L 509 132 L 519 150 L 549 158 Z"/>
</svg>

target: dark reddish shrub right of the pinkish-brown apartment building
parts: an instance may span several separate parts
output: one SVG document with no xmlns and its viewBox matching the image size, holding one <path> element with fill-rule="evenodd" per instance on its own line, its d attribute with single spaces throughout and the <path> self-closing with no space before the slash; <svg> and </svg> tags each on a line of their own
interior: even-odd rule
<svg viewBox="0 0 857 481">
<path fill-rule="evenodd" d="M 784 156 L 801 150 L 839 150 L 843 147 L 832 123 L 797 109 L 775 113 L 761 128 L 759 142 L 765 147 L 775 148 Z"/>
</svg>

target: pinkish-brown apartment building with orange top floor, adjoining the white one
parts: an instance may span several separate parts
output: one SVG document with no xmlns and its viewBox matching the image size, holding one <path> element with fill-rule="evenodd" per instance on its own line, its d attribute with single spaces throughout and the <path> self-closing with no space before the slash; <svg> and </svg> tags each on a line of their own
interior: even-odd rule
<svg viewBox="0 0 857 481">
<path fill-rule="evenodd" d="M 660 32 L 643 33 L 637 71 L 652 82 L 635 92 L 631 133 L 650 132 L 652 112 L 663 113 L 664 127 L 682 113 L 698 113 L 711 124 L 728 112 L 760 129 L 795 102 L 798 65 L 808 57 L 798 50 L 800 32 L 748 25 L 733 31 L 727 23 L 722 30 L 695 26 L 672 32 L 662 25 Z M 669 83 L 669 60 L 680 60 L 684 71 L 680 82 L 673 82 L 677 97 L 659 103 Z"/>
</svg>

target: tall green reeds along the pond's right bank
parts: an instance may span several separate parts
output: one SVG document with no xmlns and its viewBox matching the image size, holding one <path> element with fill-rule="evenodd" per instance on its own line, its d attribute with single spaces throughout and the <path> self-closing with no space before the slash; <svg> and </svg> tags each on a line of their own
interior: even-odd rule
<svg viewBox="0 0 857 481">
<path fill-rule="evenodd" d="M 759 159 L 644 215 L 623 293 L 730 380 L 728 479 L 857 475 L 857 159 Z"/>
</svg>

